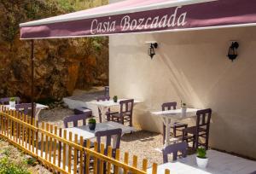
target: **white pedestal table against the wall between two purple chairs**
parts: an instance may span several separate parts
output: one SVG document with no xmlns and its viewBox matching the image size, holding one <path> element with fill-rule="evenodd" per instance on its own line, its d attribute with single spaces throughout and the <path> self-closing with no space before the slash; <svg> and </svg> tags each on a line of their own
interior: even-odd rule
<svg viewBox="0 0 256 174">
<path fill-rule="evenodd" d="M 196 108 L 187 108 L 186 112 L 183 113 L 182 109 L 173 109 L 173 110 L 166 110 L 166 111 L 157 111 L 151 112 L 152 115 L 156 117 L 160 117 L 163 123 L 166 125 L 166 142 L 165 147 L 168 146 L 170 142 L 170 126 L 174 123 L 172 119 L 188 119 L 191 117 L 196 116 L 196 111 L 199 109 Z"/>
</svg>

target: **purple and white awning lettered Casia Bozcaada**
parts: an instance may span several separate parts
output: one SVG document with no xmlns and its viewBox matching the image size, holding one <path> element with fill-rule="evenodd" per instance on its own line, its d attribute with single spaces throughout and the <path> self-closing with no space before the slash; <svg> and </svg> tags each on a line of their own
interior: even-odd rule
<svg viewBox="0 0 256 174">
<path fill-rule="evenodd" d="M 21 39 L 256 25 L 256 0 L 126 0 L 20 24 Z"/>
</svg>

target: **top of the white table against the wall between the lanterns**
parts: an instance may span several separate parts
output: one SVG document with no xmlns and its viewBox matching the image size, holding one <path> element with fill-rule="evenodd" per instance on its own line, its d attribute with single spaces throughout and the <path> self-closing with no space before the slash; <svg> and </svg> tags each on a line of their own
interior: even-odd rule
<svg viewBox="0 0 256 174">
<path fill-rule="evenodd" d="M 166 111 L 156 111 L 151 112 L 154 116 L 161 116 L 161 117 L 172 117 L 175 119 L 184 119 L 189 117 L 194 117 L 196 112 L 200 109 L 196 108 L 187 108 L 186 113 L 182 112 L 182 109 L 172 109 L 172 110 L 166 110 Z"/>
</svg>

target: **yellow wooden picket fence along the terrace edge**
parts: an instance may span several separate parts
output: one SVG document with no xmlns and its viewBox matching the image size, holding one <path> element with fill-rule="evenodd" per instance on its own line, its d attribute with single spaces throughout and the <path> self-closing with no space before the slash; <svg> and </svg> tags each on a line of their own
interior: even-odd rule
<svg viewBox="0 0 256 174">
<path fill-rule="evenodd" d="M 120 150 L 116 150 L 115 159 L 112 158 L 112 148 L 108 147 L 108 155 L 104 155 L 104 144 L 94 142 L 90 148 L 90 141 L 73 135 L 72 132 L 62 131 L 56 126 L 42 123 L 28 116 L 0 108 L 0 136 L 15 147 L 30 154 L 41 161 L 50 171 L 61 173 L 137 173 L 146 174 L 148 160 L 143 159 L 142 169 L 138 169 L 137 156 L 132 157 L 129 165 L 129 154 L 124 154 L 124 161 L 120 160 Z M 32 125 L 31 125 L 32 123 Z M 100 148 L 98 148 L 100 146 Z M 100 149 L 100 151 L 98 151 Z M 152 165 L 152 173 L 157 173 L 157 165 Z M 170 171 L 166 171 L 169 173 Z"/>
</svg>

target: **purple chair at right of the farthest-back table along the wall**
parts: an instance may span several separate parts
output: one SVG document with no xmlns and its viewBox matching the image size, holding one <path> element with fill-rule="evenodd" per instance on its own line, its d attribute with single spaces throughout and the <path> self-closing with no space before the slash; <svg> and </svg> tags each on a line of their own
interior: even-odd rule
<svg viewBox="0 0 256 174">
<path fill-rule="evenodd" d="M 134 100 L 124 100 L 120 101 L 120 112 L 110 113 L 109 118 L 111 121 L 118 122 L 125 125 L 125 122 L 129 122 L 129 126 L 132 126 L 132 112 Z"/>
</svg>

